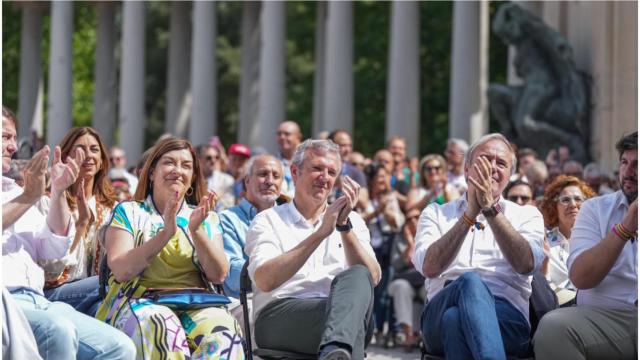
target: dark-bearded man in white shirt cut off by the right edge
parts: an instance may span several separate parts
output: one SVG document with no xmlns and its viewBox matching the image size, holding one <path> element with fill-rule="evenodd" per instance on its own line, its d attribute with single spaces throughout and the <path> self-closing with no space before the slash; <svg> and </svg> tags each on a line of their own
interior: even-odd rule
<svg viewBox="0 0 640 360">
<path fill-rule="evenodd" d="M 585 201 L 571 232 L 567 267 L 577 306 L 542 318 L 538 359 L 638 357 L 638 132 L 616 149 L 620 190 Z"/>
</svg>

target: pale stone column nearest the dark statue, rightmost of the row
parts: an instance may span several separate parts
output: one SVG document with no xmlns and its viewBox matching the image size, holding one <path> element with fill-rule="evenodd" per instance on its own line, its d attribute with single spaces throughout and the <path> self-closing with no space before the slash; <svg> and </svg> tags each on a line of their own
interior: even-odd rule
<svg viewBox="0 0 640 360">
<path fill-rule="evenodd" d="M 488 3 L 455 2 L 449 97 L 449 137 L 469 143 L 486 134 Z"/>
</svg>

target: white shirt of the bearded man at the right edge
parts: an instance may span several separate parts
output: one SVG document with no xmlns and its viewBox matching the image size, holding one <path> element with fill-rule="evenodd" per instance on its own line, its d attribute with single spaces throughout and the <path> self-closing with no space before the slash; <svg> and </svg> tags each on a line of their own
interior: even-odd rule
<svg viewBox="0 0 640 360">
<path fill-rule="evenodd" d="M 582 204 L 571 231 L 571 254 L 567 266 L 584 251 L 598 244 L 622 221 L 629 203 L 622 191 L 591 198 Z M 622 241 L 622 240 L 620 240 Z M 578 305 L 634 308 L 638 299 L 638 241 L 627 241 L 609 274 L 588 290 L 578 291 Z"/>
</svg>

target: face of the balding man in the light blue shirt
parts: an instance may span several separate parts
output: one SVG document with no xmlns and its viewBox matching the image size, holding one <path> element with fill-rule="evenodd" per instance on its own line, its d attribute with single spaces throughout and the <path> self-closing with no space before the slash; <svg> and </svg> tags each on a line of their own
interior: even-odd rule
<svg viewBox="0 0 640 360">
<path fill-rule="evenodd" d="M 280 196 L 282 164 L 270 155 L 253 160 L 251 174 L 245 178 L 247 200 L 256 207 L 271 206 Z"/>
</svg>

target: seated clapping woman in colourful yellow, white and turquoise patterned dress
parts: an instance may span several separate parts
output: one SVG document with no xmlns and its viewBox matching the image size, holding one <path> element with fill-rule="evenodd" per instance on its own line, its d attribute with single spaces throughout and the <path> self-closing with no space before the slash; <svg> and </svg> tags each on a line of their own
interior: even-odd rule
<svg viewBox="0 0 640 360">
<path fill-rule="evenodd" d="M 193 147 L 170 137 L 151 149 L 134 200 L 114 210 L 109 292 L 96 317 L 129 335 L 138 359 L 244 358 L 224 306 L 172 310 L 152 298 L 154 289 L 209 288 L 227 276 L 216 196 L 205 191 Z"/>
</svg>

